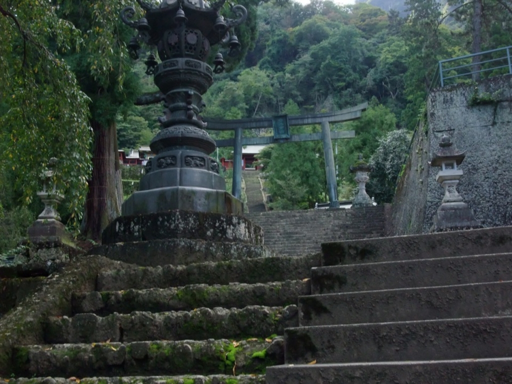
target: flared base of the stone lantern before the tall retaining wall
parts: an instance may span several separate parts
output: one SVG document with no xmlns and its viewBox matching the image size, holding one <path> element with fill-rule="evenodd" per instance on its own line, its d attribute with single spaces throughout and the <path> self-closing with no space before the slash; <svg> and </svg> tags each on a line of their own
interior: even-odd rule
<svg viewBox="0 0 512 384">
<path fill-rule="evenodd" d="M 433 221 L 431 232 L 482 228 L 480 221 L 475 219 L 473 209 L 463 202 L 443 203 Z"/>
</svg>

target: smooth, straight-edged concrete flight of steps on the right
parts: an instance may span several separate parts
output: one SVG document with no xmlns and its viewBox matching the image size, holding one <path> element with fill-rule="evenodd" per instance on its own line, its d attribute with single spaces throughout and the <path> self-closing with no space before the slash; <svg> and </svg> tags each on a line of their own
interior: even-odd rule
<svg viewBox="0 0 512 384">
<path fill-rule="evenodd" d="M 512 382 L 510 227 L 322 248 L 267 384 Z"/>
</svg>

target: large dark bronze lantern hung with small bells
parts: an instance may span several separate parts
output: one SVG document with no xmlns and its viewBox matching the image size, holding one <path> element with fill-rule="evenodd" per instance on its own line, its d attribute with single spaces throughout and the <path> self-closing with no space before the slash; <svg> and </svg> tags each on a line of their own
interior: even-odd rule
<svg viewBox="0 0 512 384">
<path fill-rule="evenodd" d="M 244 22 L 247 10 L 232 7 L 236 18 L 230 19 L 220 12 L 225 0 L 211 6 L 203 0 L 164 0 L 158 7 L 137 3 L 145 11 L 139 20 L 132 20 L 133 7 L 121 12 L 123 22 L 138 31 L 128 48 L 136 58 L 139 42 L 156 47 L 160 62 L 150 54 L 146 73 L 154 76 L 165 109 L 161 130 L 150 144 L 156 156 L 147 162 L 139 191 L 125 201 L 122 215 L 172 209 L 242 214 L 242 203 L 226 193 L 219 164 L 209 157 L 216 145 L 199 113 L 213 73 L 224 69 L 220 53 L 214 69 L 206 63 L 210 49 L 225 43 L 230 52 L 240 50 L 234 27 Z"/>
</svg>

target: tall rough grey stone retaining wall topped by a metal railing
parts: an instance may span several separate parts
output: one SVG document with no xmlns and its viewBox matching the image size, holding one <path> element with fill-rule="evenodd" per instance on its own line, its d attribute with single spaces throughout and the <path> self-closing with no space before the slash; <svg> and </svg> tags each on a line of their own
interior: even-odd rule
<svg viewBox="0 0 512 384">
<path fill-rule="evenodd" d="M 418 130 L 397 188 L 391 233 L 426 233 L 432 226 L 443 189 L 435 181 L 439 168 L 427 161 L 444 134 L 466 151 L 457 190 L 475 217 L 485 227 L 512 225 L 512 76 L 437 89 L 427 111 L 428 127 Z"/>
</svg>

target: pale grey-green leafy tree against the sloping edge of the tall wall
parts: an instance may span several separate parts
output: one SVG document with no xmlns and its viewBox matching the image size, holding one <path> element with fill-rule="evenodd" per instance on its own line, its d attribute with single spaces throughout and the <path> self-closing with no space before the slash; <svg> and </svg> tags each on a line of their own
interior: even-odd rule
<svg viewBox="0 0 512 384">
<path fill-rule="evenodd" d="M 411 132 L 403 129 L 389 132 L 378 140 L 379 146 L 369 161 L 373 170 L 366 188 L 378 204 L 391 203 L 393 200 L 396 179 L 403 159 L 407 156 L 410 141 Z"/>
</svg>

